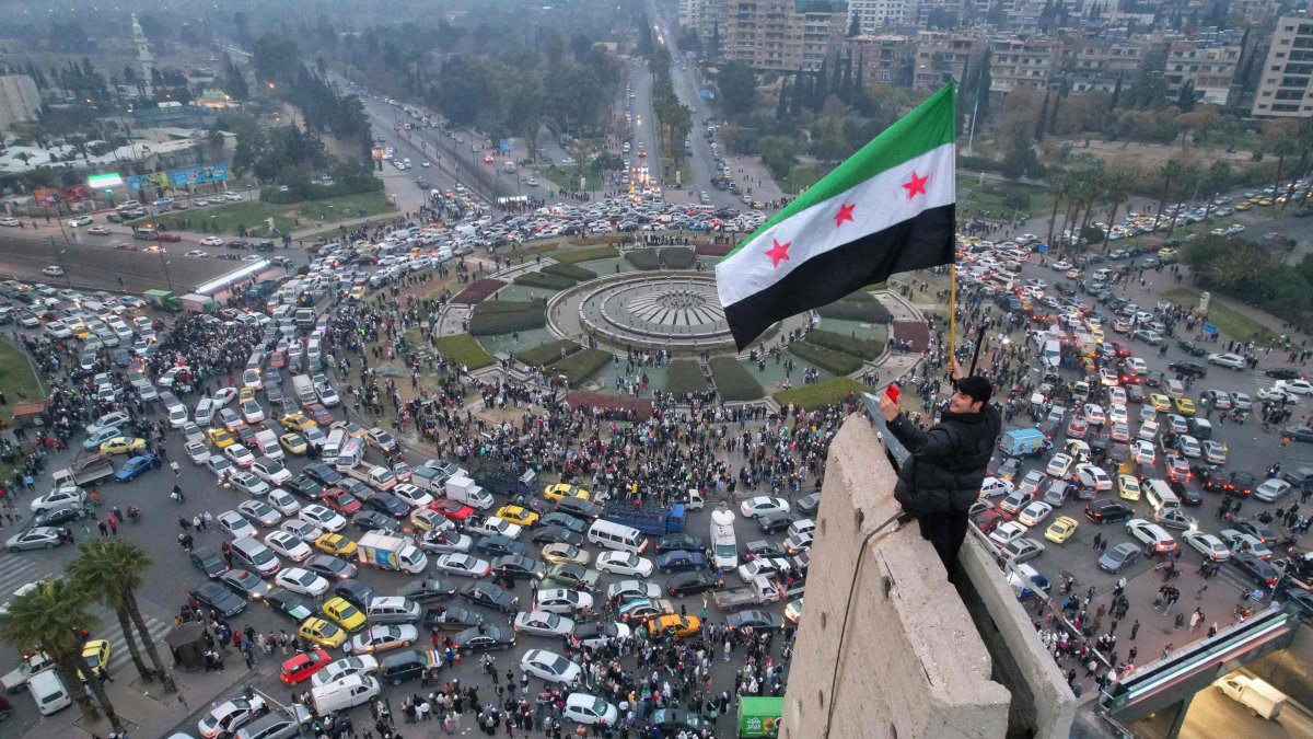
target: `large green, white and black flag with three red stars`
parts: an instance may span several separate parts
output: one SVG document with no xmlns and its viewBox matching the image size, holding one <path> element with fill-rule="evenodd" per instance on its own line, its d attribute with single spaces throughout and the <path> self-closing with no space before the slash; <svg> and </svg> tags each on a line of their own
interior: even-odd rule
<svg viewBox="0 0 1313 739">
<path fill-rule="evenodd" d="M 889 275 L 953 262 L 953 114 L 948 84 L 716 266 L 741 351 L 776 321 Z"/>
</svg>

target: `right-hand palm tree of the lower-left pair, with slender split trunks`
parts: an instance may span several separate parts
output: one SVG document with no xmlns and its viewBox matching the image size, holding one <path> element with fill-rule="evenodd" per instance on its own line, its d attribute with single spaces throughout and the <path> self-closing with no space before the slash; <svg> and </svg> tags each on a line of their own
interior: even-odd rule
<svg viewBox="0 0 1313 739">
<path fill-rule="evenodd" d="M 164 692 L 173 693 L 177 686 L 173 684 L 173 677 L 164 671 L 159 650 L 155 648 L 155 642 L 146 627 L 146 619 L 142 618 L 142 609 L 137 604 L 137 589 L 142 586 L 146 571 L 154 565 L 155 561 L 146 554 L 146 550 L 137 544 L 118 539 L 102 539 L 79 547 L 77 559 L 68 565 L 68 575 L 92 597 L 114 609 L 127 642 L 127 651 L 133 655 L 133 663 L 142 677 L 150 680 L 151 672 L 137 651 L 137 639 L 133 638 L 129 622 L 135 626 L 137 635 L 146 646 L 146 655 L 150 656 L 151 665 L 155 668 L 155 675 L 159 675 L 164 681 Z"/>
</svg>

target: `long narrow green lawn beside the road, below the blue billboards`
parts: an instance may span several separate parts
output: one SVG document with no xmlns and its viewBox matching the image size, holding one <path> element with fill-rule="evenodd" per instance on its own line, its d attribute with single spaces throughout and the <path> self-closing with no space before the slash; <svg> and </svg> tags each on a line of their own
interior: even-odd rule
<svg viewBox="0 0 1313 739">
<path fill-rule="evenodd" d="M 378 216 L 391 213 L 393 204 L 381 192 L 362 195 L 345 195 L 343 197 L 330 197 L 326 200 L 307 200 L 289 205 L 272 205 L 268 203 L 247 200 L 213 208 L 196 208 L 192 210 L 175 210 L 160 222 L 169 229 L 189 230 L 201 233 L 221 233 L 238 235 L 242 226 L 247 227 L 252 238 L 263 237 L 268 231 L 267 218 L 273 218 L 273 225 L 280 231 L 295 231 L 314 226 L 316 224 L 336 224 L 364 216 Z M 152 218 L 139 218 L 134 225 L 154 222 Z M 190 224 L 188 226 L 186 224 Z M 336 234 L 336 231 L 327 231 Z M 332 237 L 330 237 L 332 238 Z"/>
</svg>

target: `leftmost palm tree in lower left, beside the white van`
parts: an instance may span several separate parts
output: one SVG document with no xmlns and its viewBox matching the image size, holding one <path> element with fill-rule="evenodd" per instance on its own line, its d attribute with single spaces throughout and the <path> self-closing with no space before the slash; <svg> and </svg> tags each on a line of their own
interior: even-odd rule
<svg viewBox="0 0 1313 739">
<path fill-rule="evenodd" d="M 77 701 L 83 717 L 95 721 L 100 718 L 96 705 L 85 690 L 77 689 L 81 682 L 79 672 L 88 676 L 87 685 L 110 726 L 114 731 L 122 731 L 123 726 L 105 694 L 105 686 L 92 676 L 91 665 L 81 654 L 87 632 L 100 626 L 98 619 L 91 614 L 89 605 L 87 590 L 71 580 L 59 577 L 39 583 L 35 589 L 9 601 L 8 613 L 0 617 L 0 642 L 20 651 L 43 651 L 50 655 L 55 672 L 64 681 L 70 696 Z"/>
</svg>

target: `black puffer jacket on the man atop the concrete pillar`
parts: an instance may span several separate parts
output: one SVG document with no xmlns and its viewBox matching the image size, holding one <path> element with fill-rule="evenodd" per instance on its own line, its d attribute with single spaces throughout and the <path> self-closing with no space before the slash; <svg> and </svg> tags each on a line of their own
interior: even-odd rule
<svg viewBox="0 0 1313 739">
<path fill-rule="evenodd" d="M 969 509 L 979 497 L 985 468 L 1002 429 L 1002 416 L 989 404 L 979 413 L 945 410 L 928 431 L 899 416 L 889 423 L 889 430 L 911 456 L 898 471 L 894 498 L 915 513 Z"/>
</svg>

